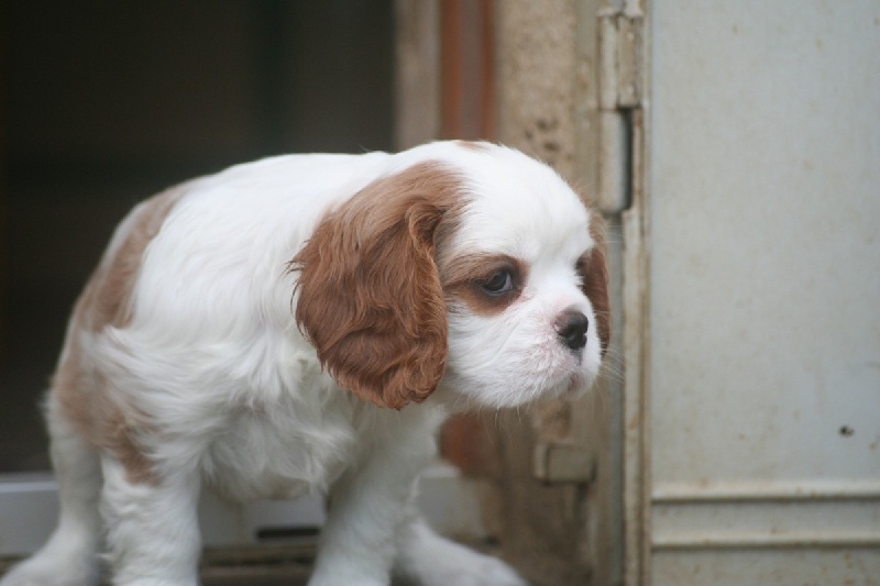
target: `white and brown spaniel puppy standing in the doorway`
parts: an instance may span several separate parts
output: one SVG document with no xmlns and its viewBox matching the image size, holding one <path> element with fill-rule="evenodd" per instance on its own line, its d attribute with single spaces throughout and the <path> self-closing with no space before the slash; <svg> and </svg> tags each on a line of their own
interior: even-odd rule
<svg viewBox="0 0 880 586">
<path fill-rule="evenodd" d="M 2 586 L 195 585 L 202 487 L 327 494 L 314 585 L 521 584 L 413 505 L 451 412 L 571 397 L 608 343 L 596 212 L 488 143 L 294 155 L 117 229 L 46 401 L 61 518 Z"/>
</svg>

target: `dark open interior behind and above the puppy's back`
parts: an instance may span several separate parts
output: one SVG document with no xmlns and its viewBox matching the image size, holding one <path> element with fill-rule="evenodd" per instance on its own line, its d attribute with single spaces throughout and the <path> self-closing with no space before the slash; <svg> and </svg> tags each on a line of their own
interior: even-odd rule
<svg viewBox="0 0 880 586">
<path fill-rule="evenodd" d="M 0 472 L 48 467 L 37 405 L 116 223 L 284 152 L 392 148 L 392 0 L 6 0 Z"/>
</svg>

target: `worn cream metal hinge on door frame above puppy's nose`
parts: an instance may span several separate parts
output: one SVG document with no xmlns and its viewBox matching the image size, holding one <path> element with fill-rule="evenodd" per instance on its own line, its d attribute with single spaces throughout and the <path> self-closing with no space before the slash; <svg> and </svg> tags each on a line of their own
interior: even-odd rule
<svg viewBox="0 0 880 586">
<path fill-rule="evenodd" d="M 598 13 L 598 168 L 597 203 L 606 213 L 630 204 L 632 130 L 630 113 L 644 96 L 644 30 L 640 12 Z"/>
</svg>

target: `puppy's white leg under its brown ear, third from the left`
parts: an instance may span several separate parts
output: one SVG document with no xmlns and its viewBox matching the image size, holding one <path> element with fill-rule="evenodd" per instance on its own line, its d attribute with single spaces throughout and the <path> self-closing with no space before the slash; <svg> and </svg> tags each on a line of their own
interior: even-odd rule
<svg viewBox="0 0 880 586">
<path fill-rule="evenodd" d="M 416 477 L 433 451 L 429 436 L 398 438 L 396 445 L 376 446 L 343 475 L 330 494 L 311 586 L 389 583 L 395 534 Z"/>
</svg>

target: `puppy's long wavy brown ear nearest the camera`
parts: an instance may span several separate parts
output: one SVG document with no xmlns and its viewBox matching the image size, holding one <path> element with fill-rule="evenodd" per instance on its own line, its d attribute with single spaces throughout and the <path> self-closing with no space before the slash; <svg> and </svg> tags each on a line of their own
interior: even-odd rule
<svg viewBox="0 0 880 586">
<path fill-rule="evenodd" d="M 296 320 L 343 388 L 381 407 L 425 400 L 447 361 L 435 251 L 460 180 L 435 163 L 370 184 L 330 211 L 290 262 Z"/>
</svg>

